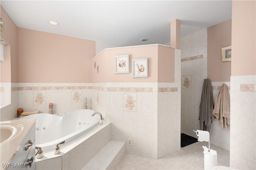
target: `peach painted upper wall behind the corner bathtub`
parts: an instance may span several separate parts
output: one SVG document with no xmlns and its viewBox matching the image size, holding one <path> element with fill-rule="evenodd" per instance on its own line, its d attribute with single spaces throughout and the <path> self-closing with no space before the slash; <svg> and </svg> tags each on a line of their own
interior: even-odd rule
<svg viewBox="0 0 256 170">
<path fill-rule="evenodd" d="M 95 42 L 18 28 L 19 83 L 88 83 Z"/>
</svg>

